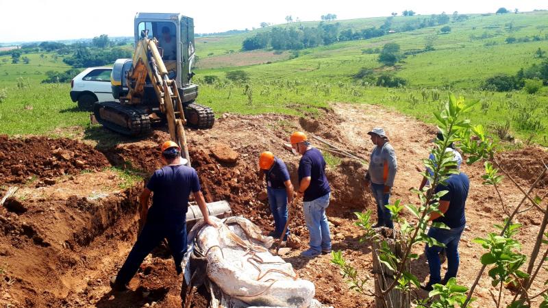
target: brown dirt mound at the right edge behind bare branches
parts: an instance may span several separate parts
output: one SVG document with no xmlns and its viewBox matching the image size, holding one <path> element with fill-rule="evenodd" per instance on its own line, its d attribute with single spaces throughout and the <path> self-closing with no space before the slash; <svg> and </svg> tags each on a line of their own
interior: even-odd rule
<svg viewBox="0 0 548 308">
<path fill-rule="evenodd" d="M 548 164 L 548 153 L 542 149 L 530 147 L 517 151 L 507 151 L 499 153 L 499 164 L 514 179 L 521 179 L 527 184 L 532 185 L 536 178 L 543 172 L 543 162 Z M 548 177 L 544 177 L 537 184 L 538 188 L 548 186 Z"/>
</svg>

